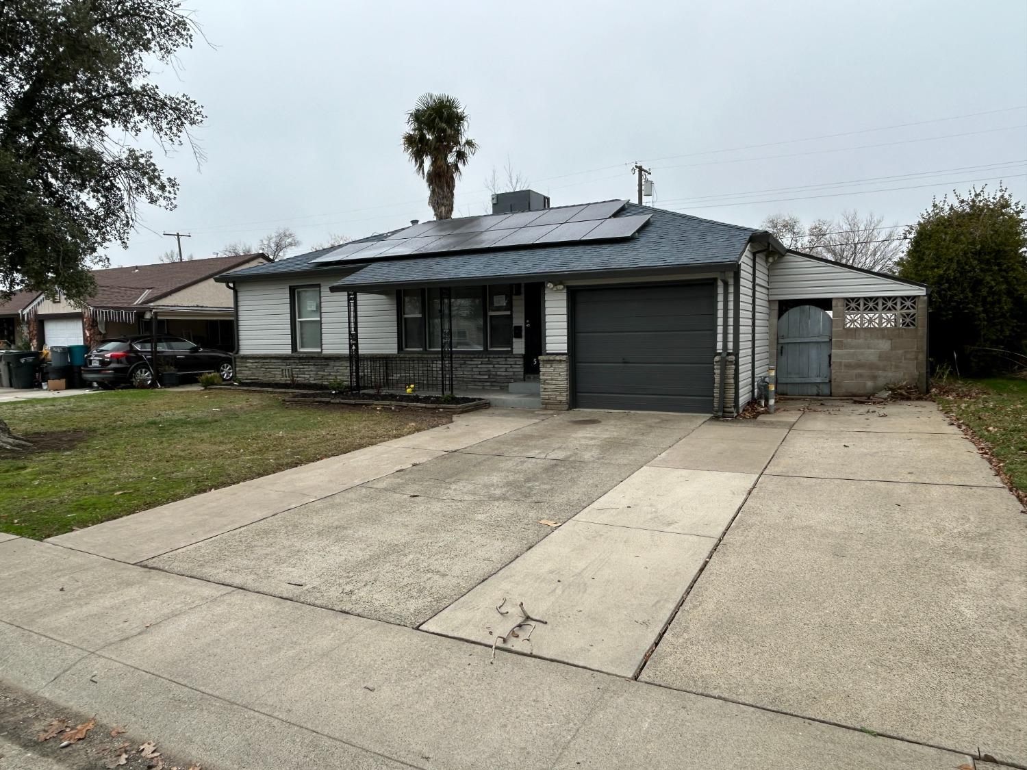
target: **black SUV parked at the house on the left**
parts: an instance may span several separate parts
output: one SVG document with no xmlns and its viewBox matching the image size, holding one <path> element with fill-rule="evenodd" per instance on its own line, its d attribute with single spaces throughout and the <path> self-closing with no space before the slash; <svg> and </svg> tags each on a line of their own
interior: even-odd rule
<svg viewBox="0 0 1027 770">
<path fill-rule="evenodd" d="M 202 375 L 217 372 L 226 382 L 235 376 L 232 354 L 223 350 L 201 348 L 180 337 L 157 335 L 157 362 L 151 369 L 153 338 L 150 335 L 112 337 L 104 340 L 85 355 L 82 379 L 102 388 L 115 385 L 153 385 L 153 371 L 177 372 L 180 375 Z"/>
</svg>

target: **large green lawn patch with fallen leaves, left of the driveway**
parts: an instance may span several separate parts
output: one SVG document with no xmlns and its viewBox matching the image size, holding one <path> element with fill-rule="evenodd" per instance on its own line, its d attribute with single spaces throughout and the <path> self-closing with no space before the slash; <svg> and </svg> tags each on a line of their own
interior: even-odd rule
<svg viewBox="0 0 1027 770">
<path fill-rule="evenodd" d="M 42 446 L 0 455 L 0 531 L 51 537 L 450 421 L 279 398 L 120 390 L 0 403 L 0 419 Z"/>
</svg>

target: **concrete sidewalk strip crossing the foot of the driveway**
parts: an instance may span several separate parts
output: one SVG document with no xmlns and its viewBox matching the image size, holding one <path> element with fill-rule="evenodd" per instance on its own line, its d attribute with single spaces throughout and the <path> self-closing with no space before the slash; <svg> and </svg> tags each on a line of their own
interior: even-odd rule
<svg viewBox="0 0 1027 770">
<path fill-rule="evenodd" d="M 0 543 L 0 577 L 6 682 L 211 770 L 971 762 L 46 543 Z"/>
</svg>

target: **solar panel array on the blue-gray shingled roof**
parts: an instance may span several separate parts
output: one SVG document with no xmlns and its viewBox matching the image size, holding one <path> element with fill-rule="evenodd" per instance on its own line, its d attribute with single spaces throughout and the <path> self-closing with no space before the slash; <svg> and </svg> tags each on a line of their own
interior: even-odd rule
<svg viewBox="0 0 1027 770">
<path fill-rule="evenodd" d="M 608 200 L 537 211 L 423 222 L 404 228 L 382 240 L 346 243 L 311 260 L 311 264 L 630 238 L 652 215 L 613 219 L 613 215 L 623 208 L 626 202 Z"/>
</svg>

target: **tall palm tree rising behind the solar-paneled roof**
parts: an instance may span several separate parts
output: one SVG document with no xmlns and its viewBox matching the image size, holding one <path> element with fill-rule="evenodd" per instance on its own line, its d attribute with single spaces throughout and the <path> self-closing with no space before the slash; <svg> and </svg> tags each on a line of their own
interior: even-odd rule
<svg viewBox="0 0 1027 770">
<path fill-rule="evenodd" d="M 456 178 L 478 151 L 478 143 L 465 133 L 467 113 L 456 97 L 425 93 L 407 113 L 407 127 L 403 149 L 428 183 L 428 205 L 435 219 L 448 220 L 453 216 Z"/>
</svg>

